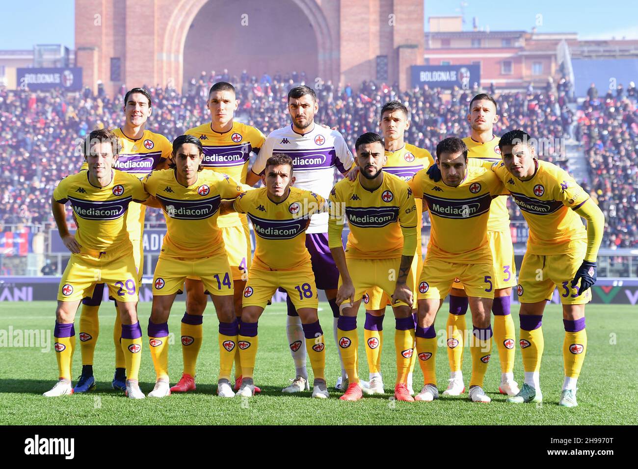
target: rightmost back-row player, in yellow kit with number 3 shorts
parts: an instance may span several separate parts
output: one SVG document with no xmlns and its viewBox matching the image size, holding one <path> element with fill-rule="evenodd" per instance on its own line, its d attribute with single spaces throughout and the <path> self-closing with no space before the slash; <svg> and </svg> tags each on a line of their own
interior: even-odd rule
<svg viewBox="0 0 638 469">
<path fill-rule="evenodd" d="M 493 134 L 494 124 L 498 122 L 496 101 L 489 94 L 481 93 L 470 101 L 467 115 L 471 127 L 470 137 L 463 138 L 468 147 L 468 163 L 481 165 L 486 161 L 500 161 L 499 138 Z M 487 240 L 492 251 L 494 265 L 494 341 L 501 363 L 501 394 L 515 396 L 519 392 L 514 381 L 514 320 L 510 314 L 512 287 L 516 286 L 516 265 L 514 264 L 514 246 L 510 234 L 510 213 L 507 198 L 498 197 L 492 201 L 487 219 Z M 463 383 L 463 336 L 465 332 L 465 313 L 468 310 L 468 297 L 463 282 L 455 282 L 450 292 L 450 314 L 447 318 L 447 356 L 450 362 L 450 382 L 443 394 L 459 396 L 465 391 Z"/>
</svg>

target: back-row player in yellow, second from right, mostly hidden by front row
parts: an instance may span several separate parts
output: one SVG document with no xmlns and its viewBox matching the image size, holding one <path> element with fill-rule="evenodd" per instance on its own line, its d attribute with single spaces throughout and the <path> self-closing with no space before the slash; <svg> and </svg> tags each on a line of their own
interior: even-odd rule
<svg viewBox="0 0 638 469">
<path fill-rule="evenodd" d="M 426 149 L 406 144 L 403 140 L 404 133 L 410 128 L 408 108 L 399 101 L 389 101 L 381 108 L 379 126 L 383 131 L 385 142 L 386 164 L 383 171 L 394 174 L 403 181 L 409 181 L 422 169 L 427 169 L 434 164 L 432 155 Z M 350 177 L 352 180 L 353 177 Z M 421 257 L 421 227 L 423 225 L 422 200 L 415 199 L 417 205 L 417 249 L 414 253 L 412 268 L 408 286 L 412 288 L 413 297 L 417 296 L 417 278 L 423 266 Z M 372 288 L 363 297 L 366 306 L 366 323 L 364 334 L 366 339 L 367 365 L 370 371 L 369 394 L 383 394 L 383 380 L 381 376 L 381 350 L 383 347 L 383 317 L 385 306 L 391 305 L 390 299 L 380 288 Z M 413 304 L 412 316 L 417 320 L 417 304 Z M 412 389 L 412 370 L 416 355 L 412 355 L 410 373 L 408 373 L 408 391 L 414 394 Z"/>
</svg>

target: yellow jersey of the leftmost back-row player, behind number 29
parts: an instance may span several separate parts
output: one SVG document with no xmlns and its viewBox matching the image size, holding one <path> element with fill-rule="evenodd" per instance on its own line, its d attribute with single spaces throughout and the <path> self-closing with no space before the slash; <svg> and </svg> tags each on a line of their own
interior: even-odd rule
<svg viewBox="0 0 638 469">
<path fill-rule="evenodd" d="M 159 163 L 170 158 L 173 151 L 173 145 L 168 141 L 168 138 L 150 130 L 145 130 L 142 137 L 137 140 L 126 137 L 121 128 L 115 129 L 113 133 L 122 142 L 122 148 L 113 167 L 133 174 L 139 179 L 144 178 L 145 175 L 157 168 Z M 80 169 L 89 169 L 86 161 Z M 128 212 L 126 212 L 126 230 L 131 241 L 142 239 L 145 214 L 145 205 L 135 203 L 129 205 Z"/>
</svg>

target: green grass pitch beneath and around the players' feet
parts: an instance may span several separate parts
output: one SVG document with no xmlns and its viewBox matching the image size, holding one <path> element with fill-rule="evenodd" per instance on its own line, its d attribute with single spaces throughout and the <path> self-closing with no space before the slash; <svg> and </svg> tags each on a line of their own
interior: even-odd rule
<svg viewBox="0 0 638 469">
<path fill-rule="evenodd" d="M 338 358 L 332 339 L 332 315 L 327 303 L 320 305 L 320 320 L 327 336 L 327 373 L 329 386 L 339 376 Z M 95 354 L 94 374 L 98 381 L 96 391 L 63 398 L 44 398 L 57 379 L 55 352 L 52 350 L 55 302 L 4 303 L 0 305 L 0 331 L 5 336 L 13 331 L 45 329 L 50 333 L 50 349 L 42 352 L 40 346 L 12 346 L 0 348 L 3 365 L 0 367 L 0 424 L 637 424 L 638 408 L 636 380 L 638 362 L 635 360 L 635 339 L 638 321 L 633 306 L 590 305 L 587 313 L 588 350 L 579 380 L 577 408 L 558 406 L 563 380 L 563 322 L 560 306 L 550 305 L 545 310 L 543 330 L 545 352 L 541 369 L 544 394 L 542 405 L 513 405 L 498 394 L 500 368 L 498 353 L 493 349 L 485 380 L 485 389 L 492 403 L 471 403 L 467 393 L 458 398 L 441 398 L 433 403 L 396 402 L 394 389 L 394 318 L 388 310 L 385 320 L 382 354 L 383 376 L 387 394 L 364 397 L 357 403 L 339 401 L 339 392 L 331 390 L 330 399 L 311 399 L 309 392 L 283 395 L 281 388 L 293 377 L 293 363 L 286 346 L 285 304 L 269 306 L 259 322 L 259 352 L 255 381 L 262 394 L 252 399 L 218 398 L 216 377 L 218 372 L 217 319 L 212 304 L 204 318 L 204 345 L 198 359 L 197 391 L 173 394 L 165 399 L 132 401 L 110 388 L 113 375 L 114 345 L 112 326 L 115 317 L 111 304 L 103 304 L 100 311 L 101 335 Z M 150 314 L 149 303 L 140 303 L 140 323 L 144 336 Z M 514 322 L 518 334 L 519 318 L 514 306 Z M 169 321 L 175 333 L 170 346 L 171 384 L 181 376 L 182 354 L 179 341 L 179 322 L 183 303 L 176 303 Z M 436 320 L 441 337 L 445 328 L 447 304 Z M 77 319 L 78 320 L 78 319 Z M 76 324 L 77 324 L 76 320 Z M 471 327 L 470 314 L 466 319 Z M 364 313 L 359 311 L 360 373 L 367 376 L 363 349 Z M 78 329 L 76 329 L 77 332 Z M 79 341 L 73 360 L 73 382 L 80 374 Z M 11 345 L 16 345 L 11 343 Z M 23 344 L 26 345 L 26 344 Z M 438 386 L 447 385 L 447 352 L 440 339 L 437 353 Z M 140 385 L 145 393 L 151 391 L 154 371 L 148 343 L 144 342 Z M 523 364 L 520 349 L 516 348 L 514 374 L 523 382 Z M 466 384 L 470 377 L 469 349 L 464 351 Z M 310 366 L 308 363 L 308 369 Z M 415 389 L 420 388 L 422 374 L 417 364 L 414 373 Z"/>
</svg>

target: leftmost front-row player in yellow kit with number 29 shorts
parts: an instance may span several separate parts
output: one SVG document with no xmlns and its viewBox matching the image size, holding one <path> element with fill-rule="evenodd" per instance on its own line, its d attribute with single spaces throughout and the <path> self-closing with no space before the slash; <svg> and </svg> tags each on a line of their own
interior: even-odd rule
<svg viewBox="0 0 638 469">
<path fill-rule="evenodd" d="M 104 281 L 119 302 L 126 394 L 131 399 L 144 398 L 138 385 L 142 355 L 142 330 L 137 320 L 139 283 L 133 246 L 126 231 L 126 213 L 131 202 L 144 202 L 149 195 L 137 177 L 113 169 L 119 145 L 119 138 L 109 130 L 89 133 L 83 145 L 88 170 L 65 177 L 53 193 L 51 205 L 57 229 L 72 254 L 57 295 L 54 348 L 59 381 L 45 392 L 47 397 L 73 394 L 73 320 L 82 298 L 91 295 L 96 283 Z M 69 234 L 66 227 L 64 204 L 68 201 L 78 227 L 75 235 Z"/>
</svg>

